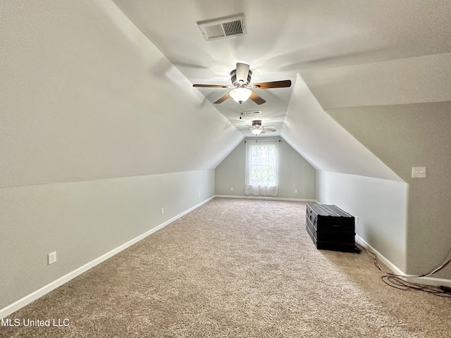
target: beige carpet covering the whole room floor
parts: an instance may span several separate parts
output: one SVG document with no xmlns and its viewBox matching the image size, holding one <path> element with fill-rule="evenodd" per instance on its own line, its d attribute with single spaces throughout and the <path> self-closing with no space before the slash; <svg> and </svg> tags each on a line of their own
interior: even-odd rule
<svg viewBox="0 0 451 338">
<path fill-rule="evenodd" d="M 0 337 L 450 337 L 451 299 L 316 250 L 305 204 L 213 199 L 9 318 Z"/>
</svg>

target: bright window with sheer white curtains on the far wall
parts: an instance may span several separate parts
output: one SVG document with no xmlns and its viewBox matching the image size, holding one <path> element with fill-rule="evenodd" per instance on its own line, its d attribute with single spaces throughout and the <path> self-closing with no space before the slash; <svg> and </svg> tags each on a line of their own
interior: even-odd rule
<svg viewBox="0 0 451 338">
<path fill-rule="evenodd" d="M 245 194 L 277 196 L 278 141 L 246 142 Z"/>
</svg>

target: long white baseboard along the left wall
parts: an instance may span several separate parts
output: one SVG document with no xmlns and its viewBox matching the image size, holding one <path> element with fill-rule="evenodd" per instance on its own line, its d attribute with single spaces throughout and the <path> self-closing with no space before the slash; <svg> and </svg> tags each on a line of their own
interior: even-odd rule
<svg viewBox="0 0 451 338">
<path fill-rule="evenodd" d="M 45 285 L 44 287 L 37 289 L 35 292 L 32 292 L 31 294 L 28 294 L 27 296 L 19 299 L 18 301 L 15 301 L 14 303 L 6 306 L 5 308 L 0 309 L 0 319 L 5 318 L 8 315 L 11 315 L 11 313 L 14 313 L 18 311 L 20 308 L 23 308 L 24 306 L 28 305 L 32 301 L 35 301 L 36 299 L 39 299 L 40 297 L 44 296 L 44 294 L 48 294 L 52 290 L 56 289 L 57 287 L 61 287 L 61 285 L 65 284 L 66 282 L 72 280 L 73 278 L 81 275 L 82 273 L 85 273 L 87 270 L 94 268 L 94 266 L 102 263 L 103 261 L 106 261 L 108 258 L 111 258 L 112 256 L 116 255 L 116 253 L 119 253 L 125 249 L 127 249 L 129 246 L 132 246 L 133 244 L 140 242 L 145 237 L 149 236 L 149 234 L 153 234 L 154 232 L 160 230 L 163 227 L 166 227 L 166 225 L 173 223 L 174 220 L 177 220 L 178 218 L 182 217 L 183 215 L 186 215 L 187 213 L 190 213 L 195 208 L 199 208 L 199 206 L 202 206 L 202 204 L 205 204 L 206 202 L 210 201 L 211 199 L 214 199 L 215 196 L 211 196 L 209 199 L 206 199 L 199 204 L 196 204 L 195 206 L 192 206 L 192 208 L 189 208 L 183 213 L 180 213 L 170 220 L 166 220 L 166 222 L 161 223 L 160 225 L 157 225 L 156 227 L 153 227 L 151 230 L 144 232 L 144 234 L 140 234 L 140 236 L 135 237 L 134 239 L 131 239 L 129 242 L 126 242 L 125 244 L 122 244 L 121 246 L 118 246 L 116 249 L 113 249 L 104 255 L 94 259 L 93 261 L 90 261 L 89 263 L 86 263 L 85 265 L 80 266 L 80 268 L 77 268 L 70 273 L 63 275 L 62 277 L 58 278 L 57 280 L 54 280 L 53 282 Z"/>
</svg>

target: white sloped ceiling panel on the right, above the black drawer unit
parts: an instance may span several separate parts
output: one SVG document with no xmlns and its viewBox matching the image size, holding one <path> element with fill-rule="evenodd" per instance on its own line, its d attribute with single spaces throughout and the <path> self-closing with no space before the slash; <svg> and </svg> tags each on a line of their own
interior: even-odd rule
<svg viewBox="0 0 451 338">
<path fill-rule="evenodd" d="M 299 75 L 282 137 L 316 169 L 402 181 L 323 111 Z"/>
</svg>

